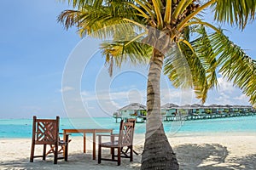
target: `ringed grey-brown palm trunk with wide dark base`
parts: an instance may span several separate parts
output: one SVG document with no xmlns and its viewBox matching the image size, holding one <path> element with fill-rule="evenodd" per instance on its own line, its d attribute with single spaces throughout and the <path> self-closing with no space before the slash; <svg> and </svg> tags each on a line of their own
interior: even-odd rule
<svg viewBox="0 0 256 170">
<path fill-rule="evenodd" d="M 146 139 L 141 169 L 178 169 L 175 153 L 166 138 L 160 114 L 160 75 L 164 55 L 154 49 L 148 71 Z"/>
</svg>

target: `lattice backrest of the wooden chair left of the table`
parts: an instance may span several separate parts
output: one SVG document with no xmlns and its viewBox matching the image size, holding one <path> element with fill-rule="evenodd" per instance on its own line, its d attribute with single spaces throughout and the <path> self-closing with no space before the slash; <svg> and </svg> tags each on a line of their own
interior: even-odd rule
<svg viewBox="0 0 256 170">
<path fill-rule="evenodd" d="M 35 144 L 58 144 L 59 122 L 59 116 L 56 119 L 37 119 L 33 116 L 32 140 Z"/>
</svg>

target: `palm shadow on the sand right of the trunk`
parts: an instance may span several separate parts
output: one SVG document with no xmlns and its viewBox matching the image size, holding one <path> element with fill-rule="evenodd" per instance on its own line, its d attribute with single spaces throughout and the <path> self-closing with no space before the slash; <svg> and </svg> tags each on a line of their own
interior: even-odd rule
<svg viewBox="0 0 256 170">
<path fill-rule="evenodd" d="M 182 144 L 173 150 L 177 153 L 180 169 L 256 169 L 256 154 L 233 158 L 227 147 L 221 144 Z"/>
</svg>

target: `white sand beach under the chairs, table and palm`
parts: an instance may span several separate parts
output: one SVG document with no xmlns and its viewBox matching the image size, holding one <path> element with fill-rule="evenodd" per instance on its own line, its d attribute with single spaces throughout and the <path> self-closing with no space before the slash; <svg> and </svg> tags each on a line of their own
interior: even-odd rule
<svg viewBox="0 0 256 170">
<path fill-rule="evenodd" d="M 29 162 L 31 139 L 0 139 L 0 169 L 140 169 L 143 135 L 135 135 L 134 161 L 116 162 L 92 160 L 92 140 L 87 138 L 87 153 L 83 153 L 83 138 L 73 137 L 68 161 L 36 158 Z M 256 133 L 214 133 L 197 136 L 170 136 L 180 169 L 256 169 Z M 41 148 L 40 148 L 41 149 Z M 105 153 L 109 153 L 106 152 Z"/>
</svg>

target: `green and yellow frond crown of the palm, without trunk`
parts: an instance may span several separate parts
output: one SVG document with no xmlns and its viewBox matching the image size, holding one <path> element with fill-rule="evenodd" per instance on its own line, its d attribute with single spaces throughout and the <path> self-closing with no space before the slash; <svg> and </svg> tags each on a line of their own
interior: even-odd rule
<svg viewBox="0 0 256 170">
<path fill-rule="evenodd" d="M 164 72 L 174 87 L 194 88 L 196 97 L 205 102 L 208 89 L 218 85 L 216 71 L 219 67 L 219 72 L 229 81 L 233 81 L 236 87 L 241 88 L 250 97 L 250 102 L 255 104 L 255 60 L 225 37 L 224 31 L 197 17 L 205 8 L 212 8 L 215 20 L 237 25 L 242 30 L 248 21 L 254 20 L 255 0 L 68 0 L 68 3 L 72 3 L 73 8 L 77 9 L 63 11 L 58 19 L 67 29 L 77 26 L 81 37 L 86 34 L 100 38 L 113 36 L 112 42 L 102 43 L 102 54 L 106 56 L 110 72 L 113 63 L 120 66 L 127 59 L 134 63 L 148 62 L 152 48 L 139 42 L 148 42 L 148 39 L 152 41 L 153 32 L 148 35 L 145 27 L 150 26 L 164 32 L 170 37 L 168 41 L 177 44 L 177 49 L 172 49 L 172 53 L 166 56 L 164 66 Z M 121 24 L 127 23 L 142 29 L 144 34 L 137 35 L 132 30 L 134 27 L 127 34 L 127 25 L 125 33 L 113 32 L 112 29 L 102 31 L 106 26 L 121 27 Z M 209 29 L 206 27 L 211 28 L 212 32 L 207 32 Z M 144 36 L 145 32 L 147 37 Z M 193 39 L 190 37 L 192 33 L 197 35 Z M 122 41 L 124 38 L 120 35 L 129 38 Z M 165 46 L 168 43 L 170 42 L 161 42 L 160 47 L 169 48 Z M 178 59 L 177 55 L 187 60 L 191 68 L 189 73 L 194 77 L 191 80 L 187 76 L 186 84 L 177 75 L 177 69 L 181 65 L 173 65 L 174 60 Z"/>
</svg>

